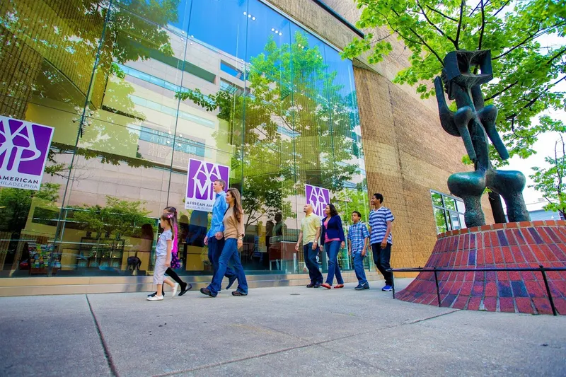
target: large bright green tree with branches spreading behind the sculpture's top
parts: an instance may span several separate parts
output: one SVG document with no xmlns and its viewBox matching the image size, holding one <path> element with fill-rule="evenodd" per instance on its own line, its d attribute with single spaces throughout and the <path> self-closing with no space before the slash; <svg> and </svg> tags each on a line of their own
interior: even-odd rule
<svg viewBox="0 0 566 377">
<path fill-rule="evenodd" d="M 560 122 L 533 117 L 564 105 L 565 92 L 556 86 L 566 81 L 566 47 L 544 45 L 541 37 L 566 36 L 563 0 L 357 0 L 363 8 L 360 28 L 385 28 L 389 33 L 366 35 L 345 48 L 344 57 L 369 52 L 377 63 L 393 50 L 396 35 L 412 52 L 410 66 L 398 72 L 395 83 L 417 85 L 417 93 L 434 93 L 431 80 L 439 76 L 444 56 L 453 50 L 491 50 L 496 80 L 484 87 L 486 105 L 499 110 L 497 127 L 509 155 L 526 158 L 538 134 L 556 131 Z M 391 34 L 390 34 L 391 33 Z M 501 164 L 492 148 L 492 160 Z"/>
</svg>

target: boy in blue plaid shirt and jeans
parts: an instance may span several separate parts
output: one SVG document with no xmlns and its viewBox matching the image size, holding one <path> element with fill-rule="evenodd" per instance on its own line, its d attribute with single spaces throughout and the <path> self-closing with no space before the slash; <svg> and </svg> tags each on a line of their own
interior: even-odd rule
<svg viewBox="0 0 566 377">
<path fill-rule="evenodd" d="M 362 214 L 353 211 L 352 222 L 354 224 L 348 228 L 348 255 L 354 257 L 354 271 L 358 279 L 358 286 L 355 288 L 357 291 L 369 289 L 366 272 L 364 271 L 364 257 L 366 257 L 369 243 L 369 231 L 366 224 L 362 224 L 360 220 L 362 220 Z"/>
</svg>

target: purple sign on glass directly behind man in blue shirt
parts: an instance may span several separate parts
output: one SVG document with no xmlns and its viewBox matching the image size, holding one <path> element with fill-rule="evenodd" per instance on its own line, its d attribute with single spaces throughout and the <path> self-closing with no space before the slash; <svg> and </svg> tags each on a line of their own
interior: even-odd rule
<svg viewBox="0 0 566 377">
<path fill-rule="evenodd" d="M 212 212 L 212 205 L 216 198 L 212 190 L 214 180 L 224 180 L 226 182 L 224 190 L 228 190 L 229 178 L 229 166 L 189 158 L 185 209 Z"/>
</svg>

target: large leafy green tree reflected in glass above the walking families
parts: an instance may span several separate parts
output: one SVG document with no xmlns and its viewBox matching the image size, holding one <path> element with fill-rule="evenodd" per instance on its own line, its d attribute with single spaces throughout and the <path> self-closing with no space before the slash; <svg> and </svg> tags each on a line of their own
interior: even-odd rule
<svg viewBox="0 0 566 377">
<path fill-rule="evenodd" d="M 328 71 L 318 47 L 303 46 L 308 47 L 304 33 L 297 32 L 292 45 L 277 46 L 271 38 L 264 52 L 250 59 L 246 93 L 177 93 L 218 110 L 218 117 L 229 122 L 229 129 L 215 136 L 243 153 L 243 166 L 239 157 L 233 165 L 243 171 L 243 204 L 251 224 L 262 214 L 288 216 L 284 198 L 305 182 L 338 191 L 358 169 L 350 161 L 355 110 L 340 94 L 337 72 Z"/>
</svg>

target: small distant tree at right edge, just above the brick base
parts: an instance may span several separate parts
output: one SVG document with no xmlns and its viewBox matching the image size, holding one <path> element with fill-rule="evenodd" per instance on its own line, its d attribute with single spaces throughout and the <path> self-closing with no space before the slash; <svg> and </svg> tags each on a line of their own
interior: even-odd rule
<svg viewBox="0 0 566 377">
<path fill-rule="evenodd" d="M 566 132 L 566 130 L 565 130 Z M 562 134 L 554 146 L 554 157 L 545 157 L 549 168 L 534 167 L 533 187 L 548 201 L 546 211 L 558 211 L 566 219 L 566 144 Z"/>
</svg>

